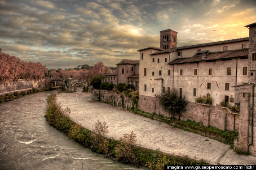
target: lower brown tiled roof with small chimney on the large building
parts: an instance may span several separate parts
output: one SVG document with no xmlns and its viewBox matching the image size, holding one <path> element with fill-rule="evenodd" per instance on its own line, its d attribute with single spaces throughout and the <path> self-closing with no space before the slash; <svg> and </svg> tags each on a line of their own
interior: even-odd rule
<svg viewBox="0 0 256 170">
<path fill-rule="evenodd" d="M 189 58 L 175 59 L 168 64 L 185 64 L 185 63 L 195 63 L 199 61 L 213 61 L 216 59 L 232 59 L 235 57 L 248 57 L 248 49 L 243 50 L 230 50 L 230 51 L 218 51 L 218 52 L 208 52 L 206 58 L 202 59 L 202 55 L 194 55 Z"/>
</svg>

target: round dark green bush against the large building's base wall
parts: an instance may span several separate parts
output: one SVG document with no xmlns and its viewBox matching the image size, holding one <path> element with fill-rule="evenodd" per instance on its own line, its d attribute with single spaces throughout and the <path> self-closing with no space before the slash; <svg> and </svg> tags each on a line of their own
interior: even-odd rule
<svg viewBox="0 0 256 170">
<path fill-rule="evenodd" d="M 159 103 L 163 106 L 163 109 L 168 111 L 172 117 L 175 114 L 181 116 L 181 111 L 185 111 L 185 107 L 188 105 L 188 100 L 185 100 L 184 97 L 180 96 L 178 89 L 168 90 L 166 93 L 162 93 L 159 98 Z"/>
</svg>

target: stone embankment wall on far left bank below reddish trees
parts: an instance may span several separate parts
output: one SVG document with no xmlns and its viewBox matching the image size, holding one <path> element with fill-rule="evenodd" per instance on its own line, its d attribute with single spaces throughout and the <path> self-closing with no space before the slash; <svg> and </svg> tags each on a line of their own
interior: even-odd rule
<svg viewBox="0 0 256 170">
<path fill-rule="evenodd" d="M 44 86 L 44 79 L 29 81 L 23 79 L 19 79 L 18 81 L 3 81 L 0 83 L 0 94 Z"/>
</svg>

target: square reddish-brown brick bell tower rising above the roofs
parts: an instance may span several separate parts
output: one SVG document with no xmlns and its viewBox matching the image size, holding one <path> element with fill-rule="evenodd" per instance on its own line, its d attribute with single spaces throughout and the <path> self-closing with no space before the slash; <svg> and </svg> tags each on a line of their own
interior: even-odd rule
<svg viewBox="0 0 256 170">
<path fill-rule="evenodd" d="M 160 31 L 160 48 L 177 48 L 177 34 L 171 29 Z"/>
</svg>

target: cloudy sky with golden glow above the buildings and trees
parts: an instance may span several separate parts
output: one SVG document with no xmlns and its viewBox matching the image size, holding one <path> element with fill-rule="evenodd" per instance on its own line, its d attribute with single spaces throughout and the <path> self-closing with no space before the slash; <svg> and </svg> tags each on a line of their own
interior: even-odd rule
<svg viewBox="0 0 256 170">
<path fill-rule="evenodd" d="M 0 48 L 48 69 L 116 67 L 160 47 L 161 30 L 181 47 L 248 37 L 255 22 L 256 0 L 0 0 Z"/>
</svg>

